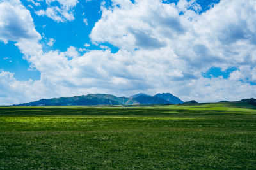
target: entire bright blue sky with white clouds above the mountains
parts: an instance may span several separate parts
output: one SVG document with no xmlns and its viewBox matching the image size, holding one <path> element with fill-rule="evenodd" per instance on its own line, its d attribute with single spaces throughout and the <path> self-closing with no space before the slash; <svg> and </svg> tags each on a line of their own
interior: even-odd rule
<svg viewBox="0 0 256 170">
<path fill-rule="evenodd" d="M 256 97 L 255 0 L 0 0 L 0 105 Z"/>
</svg>

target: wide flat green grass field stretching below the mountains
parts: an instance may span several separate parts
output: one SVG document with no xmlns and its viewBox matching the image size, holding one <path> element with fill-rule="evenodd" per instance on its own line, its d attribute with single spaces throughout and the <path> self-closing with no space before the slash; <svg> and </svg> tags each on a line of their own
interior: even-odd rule
<svg viewBox="0 0 256 170">
<path fill-rule="evenodd" d="M 256 107 L 0 107 L 0 169 L 256 169 Z"/>
</svg>

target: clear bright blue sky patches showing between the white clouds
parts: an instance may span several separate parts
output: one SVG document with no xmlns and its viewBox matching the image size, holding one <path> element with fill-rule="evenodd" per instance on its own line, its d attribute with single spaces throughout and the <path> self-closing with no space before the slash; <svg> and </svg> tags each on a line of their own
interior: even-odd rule
<svg viewBox="0 0 256 170">
<path fill-rule="evenodd" d="M 35 11 L 47 8 L 45 2 L 40 3 L 40 6 L 33 5 L 32 1 L 21 1 L 24 6 L 30 11 L 31 17 L 34 20 L 36 31 L 44 38 L 41 40 L 42 43 L 47 43 L 49 39 L 54 39 L 53 46 L 45 46 L 45 50 L 60 50 L 65 52 L 69 46 L 76 46 L 77 48 L 83 48 L 84 44 L 89 44 L 90 50 L 99 50 L 99 45 L 93 45 L 90 41 L 90 32 L 92 31 L 95 23 L 100 19 L 102 13 L 100 11 L 100 4 L 102 1 L 79 1 L 74 7 L 74 20 L 71 22 L 55 22 L 47 16 L 38 16 Z M 175 3 L 179 1 L 165 1 L 164 3 Z M 218 3 L 218 1 L 196 1 L 202 7 L 201 12 L 209 10 L 212 5 Z M 106 1 L 108 6 L 111 6 L 111 1 Z M 51 3 L 53 6 L 60 6 L 58 1 Z M 32 6 L 33 8 L 30 8 Z M 84 23 L 84 19 L 87 19 L 88 25 Z M 1 43 L 1 66 L 0 69 L 3 71 L 10 71 L 15 73 L 15 78 L 20 81 L 40 80 L 40 72 L 36 69 L 29 68 L 28 60 L 22 59 L 23 54 L 20 53 L 15 42 L 10 41 L 7 44 Z M 109 43 L 102 43 L 111 48 L 111 52 L 115 53 L 118 48 L 112 46 Z M 6 59 L 8 58 L 8 59 Z M 228 69 L 229 70 L 229 69 Z M 230 73 L 230 72 L 228 72 Z M 208 74 L 208 72 L 206 73 Z M 227 73 L 226 73 L 227 74 Z M 219 71 L 211 71 L 212 76 L 221 76 Z M 207 75 L 207 76 L 210 76 Z"/>
</svg>

